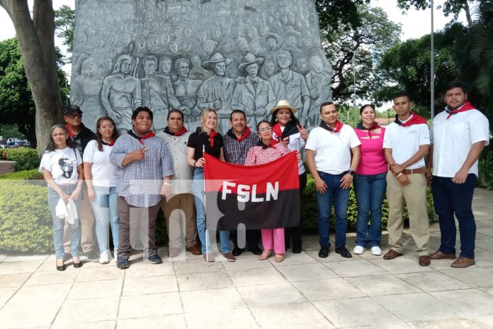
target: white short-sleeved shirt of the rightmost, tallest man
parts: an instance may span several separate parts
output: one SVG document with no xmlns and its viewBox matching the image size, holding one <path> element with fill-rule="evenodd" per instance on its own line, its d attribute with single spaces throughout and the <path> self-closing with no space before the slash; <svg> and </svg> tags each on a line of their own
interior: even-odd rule
<svg viewBox="0 0 493 329">
<path fill-rule="evenodd" d="M 454 177 L 465 162 L 472 144 L 485 141 L 489 144 L 488 119 L 477 110 L 455 113 L 438 113 L 433 119 L 430 140 L 433 144 L 433 175 Z M 477 160 L 468 174 L 477 174 Z"/>
</svg>

